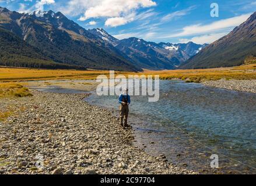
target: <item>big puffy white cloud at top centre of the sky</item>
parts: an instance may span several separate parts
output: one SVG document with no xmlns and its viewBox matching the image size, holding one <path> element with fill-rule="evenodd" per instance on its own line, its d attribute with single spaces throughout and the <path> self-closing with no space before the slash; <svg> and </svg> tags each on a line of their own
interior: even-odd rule
<svg viewBox="0 0 256 186">
<path fill-rule="evenodd" d="M 70 0 L 61 11 L 67 15 L 80 16 L 80 21 L 91 18 L 106 17 L 106 26 L 117 27 L 132 22 L 139 8 L 149 8 L 155 6 L 154 0 Z M 150 16 L 141 15 L 140 19 Z"/>
</svg>

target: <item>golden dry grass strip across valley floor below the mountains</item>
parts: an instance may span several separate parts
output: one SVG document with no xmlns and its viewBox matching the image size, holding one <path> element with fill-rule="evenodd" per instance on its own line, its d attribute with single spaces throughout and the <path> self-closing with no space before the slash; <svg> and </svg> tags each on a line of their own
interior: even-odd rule
<svg viewBox="0 0 256 186">
<path fill-rule="evenodd" d="M 201 82 L 204 80 L 239 79 L 250 80 L 256 79 L 256 64 L 223 67 L 217 69 L 194 69 L 194 70 L 162 70 L 150 71 L 145 70 L 140 73 L 120 72 L 116 74 L 138 75 L 159 75 L 162 79 L 178 78 L 188 82 Z M 0 68 L 0 81 L 27 81 L 27 80 L 54 80 L 54 79 L 95 79 L 97 76 L 108 75 L 109 71 L 100 70 L 39 70 L 39 69 L 16 69 Z"/>
</svg>

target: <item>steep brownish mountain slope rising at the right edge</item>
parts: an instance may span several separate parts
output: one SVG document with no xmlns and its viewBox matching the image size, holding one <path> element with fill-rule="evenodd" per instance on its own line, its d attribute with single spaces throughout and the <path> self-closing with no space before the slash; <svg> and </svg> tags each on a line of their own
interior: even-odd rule
<svg viewBox="0 0 256 186">
<path fill-rule="evenodd" d="M 241 65 L 248 56 L 256 56 L 256 12 L 239 27 L 202 49 L 181 69 L 199 69 Z"/>
</svg>

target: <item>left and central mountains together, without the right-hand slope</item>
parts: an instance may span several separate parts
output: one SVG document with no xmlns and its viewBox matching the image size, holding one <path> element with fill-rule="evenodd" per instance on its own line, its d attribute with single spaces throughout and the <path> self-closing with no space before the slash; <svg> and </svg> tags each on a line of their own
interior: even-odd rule
<svg viewBox="0 0 256 186">
<path fill-rule="evenodd" d="M 141 71 L 175 69 L 203 45 L 118 40 L 86 30 L 61 12 L 18 13 L 0 8 L 0 65 Z M 15 42 L 13 42 L 15 40 Z M 26 47 L 24 47 L 26 46 Z"/>
</svg>

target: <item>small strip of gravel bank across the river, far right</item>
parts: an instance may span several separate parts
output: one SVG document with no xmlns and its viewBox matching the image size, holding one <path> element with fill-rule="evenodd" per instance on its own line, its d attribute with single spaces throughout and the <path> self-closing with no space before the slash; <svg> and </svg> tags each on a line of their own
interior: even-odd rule
<svg viewBox="0 0 256 186">
<path fill-rule="evenodd" d="M 227 90 L 256 93 L 256 80 L 217 80 L 204 81 L 202 84 Z"/>
</svg>

